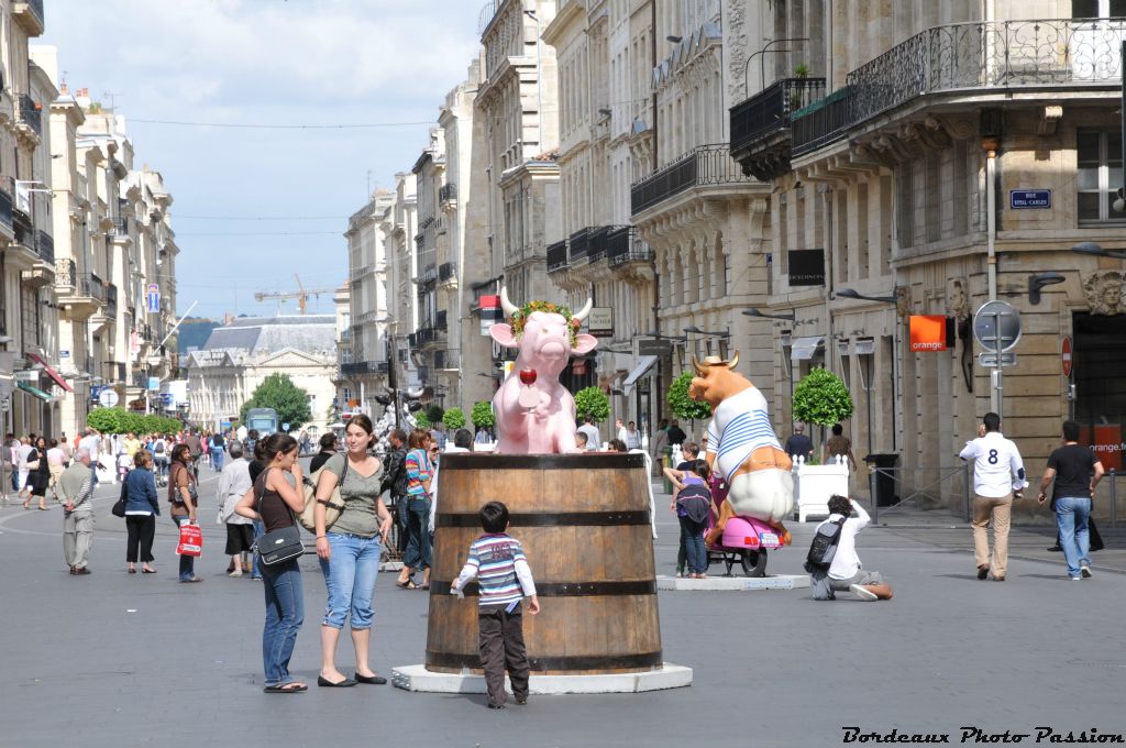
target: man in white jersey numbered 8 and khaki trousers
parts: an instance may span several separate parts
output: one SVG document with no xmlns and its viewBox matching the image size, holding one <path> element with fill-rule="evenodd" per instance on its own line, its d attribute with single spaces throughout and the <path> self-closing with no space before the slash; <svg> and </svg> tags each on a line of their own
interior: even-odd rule
<svg viewBox="0 0 1126 748">
<path fill-rule="evenodd" d="M 990 571 L 993 579 L 1004 581 L 1009 566 L 1009 518 L 1012 500 L 1021 498 L 1025 463 L 1017 445 L 1001 435 L 1001 417 L 985 413 L 977 427 L 977 438 L 966 442 L 958 453 L 965 461 L 974 461 L 974 558 L 977 578 L 985 579 Z M 989 551 L 989 526 L 993 524 L 993 554 Z"/>
</svg>

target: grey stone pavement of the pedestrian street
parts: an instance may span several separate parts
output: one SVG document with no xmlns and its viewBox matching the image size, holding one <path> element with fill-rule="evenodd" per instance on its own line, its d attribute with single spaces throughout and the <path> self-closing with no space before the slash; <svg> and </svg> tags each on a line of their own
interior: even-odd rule
<svg viewBox="0 0 1126 748">
<path fill-rule="evenodd" d="M 62 562 L 57 506 L 0 509 L 0 746 L 758 747 L 837 746 L 844 725 L 946 733 L 954 743 L 962 725 L 1126 732 L 1126 656 L 1112 633 L 1126 613 L 1121 551 L 1096 554 L 1094 579 L 1071 582 L 1058 554 L 1037 554 L 1047 529 L 1019 529 L 1009 580 L 983 582 L 957 522 L 860 535 L 865 566 L 884 572 L 892 602 L 842 594 L 816 603 L 807 589 L 661 593 L 665 659 L 695 669 L 689 688 L 539 697 L 501 712 L 482 696 L 390 686 L 266 695 L 262 593 L 223 573 L 214 486 L 203 491 L 203 585 L 176 582 L 167 516 L 154 549 L 160 573 L 125 573 L 124 526 L 109 515 L 116 487 L 99 489 L 86 578 Z M 659 573 L 672 572 L 676 555 L 667 507 L 659 497 Z M 814 526 L 795 523 L 794 546 L 771 554 L 768 571 L 798 572 Z M 324 585 L 312 558 L 303 567 L 306 616 L 293 666 L 312 683 Z M 381 575 L 373 667 L 421 662 L 426 615 L 423 593 Z M 350 654 L 343 641 L 338 662 L 349 666 Z"/>
</svg>

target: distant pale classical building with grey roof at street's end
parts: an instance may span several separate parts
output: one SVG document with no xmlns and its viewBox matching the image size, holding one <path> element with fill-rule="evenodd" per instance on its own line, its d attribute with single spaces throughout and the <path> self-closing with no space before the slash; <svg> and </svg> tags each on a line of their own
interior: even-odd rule
<svg viewBox="0 0 1126 748">
<path fill-rule="evenodd" d="M 286 374 L 309 393 L 313 418 L 307 425 L 323 428 L 336 394 L 337 318 L 239 318 L 215 328 L 202 349 L 188 354 L 187 366 L 188 420 L 197 426 L 215 428 L 238 416 L 266 377 Z"/>
</svg>

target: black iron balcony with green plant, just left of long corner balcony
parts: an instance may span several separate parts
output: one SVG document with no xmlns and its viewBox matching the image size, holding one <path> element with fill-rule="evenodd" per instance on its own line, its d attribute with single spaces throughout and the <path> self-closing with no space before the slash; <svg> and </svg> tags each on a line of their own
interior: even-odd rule
<svg viewBox="0 0 1126 748">
<path fill-rule="evenodd" d="M 768 181 L 789 171 L 790 114 L 823 98 L 824 78 L 786 78 L 731 108 L 731 155 Z"/>
</svg>

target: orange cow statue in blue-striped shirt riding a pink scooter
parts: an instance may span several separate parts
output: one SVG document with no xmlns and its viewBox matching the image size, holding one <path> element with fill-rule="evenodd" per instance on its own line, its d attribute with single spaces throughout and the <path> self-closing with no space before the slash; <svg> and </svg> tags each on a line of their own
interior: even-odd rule
<svg viewBox="0 0 1126 748">
<path fill-rule="evenodd" d="M 707 428 L 707 463 L 727 482 L 730 491 L 720 507 L 720 518 L 708 533 L 708 543 L 723 534 L 732 517 L 761 519 L 778 531 L 785 544 L 789 531 L 781 524 L 794 511 L 793 463 L 778 442 L 767 416 L 767 400 L 747 377 L 735 372 L 739 351 L 731 360 L 692 356 L 688 393 L 712 406 Z"/>
</svg>

